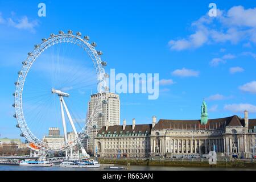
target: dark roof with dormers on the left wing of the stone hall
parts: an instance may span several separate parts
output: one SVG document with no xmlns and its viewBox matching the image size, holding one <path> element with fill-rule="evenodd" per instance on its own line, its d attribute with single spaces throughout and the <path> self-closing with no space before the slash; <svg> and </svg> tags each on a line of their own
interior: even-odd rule
<svg viewBox="0 0 256 182">
<path fill-rule="evenodd" d="M 152 125 L 135 125 L 134 130 L 133 130 L 133 125 L 126 125 L 125 126 L 125 130 L 123 130 L 123 126 L 122 125 L 114 125 L 114 126 L 109 126 L 108 130 L 106 130 L 106 126 L 102 127 L 101 130 L 98 132 L 99 134 L 102 134 L 102 132 L 104 132 L 105 134 L 108 134 L 110 132 L 110 134 L 114 134 L 114 132 L 116 132 L 117 134 L 120 134 L 120 131 L 122 131 L 123 134 L 125 134 L 127 131 L 129 131 L 129 133 L 139 133 L 141 131 L 141 133 L 146 133 L 146 131 L 148 133 L 150 133 L 152 129 Z"/>
</svg>

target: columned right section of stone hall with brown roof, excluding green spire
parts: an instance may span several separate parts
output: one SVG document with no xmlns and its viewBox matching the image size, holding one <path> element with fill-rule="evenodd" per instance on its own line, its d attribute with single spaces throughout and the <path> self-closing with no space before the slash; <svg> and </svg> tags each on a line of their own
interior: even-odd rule
<svg viewBox="0 0 256 182">
<path fill-rule="evenodd" d="M 247 113 L 247 111 L 245 111 Z M 245 114 L 246 115 L 246 114 Z M 151 156 L 172 154 L 208 154 L 216 151 L 224 155 L 237 154 L 250 157 L 255 151 L 256 119 L 237 115 L 200 121 L 163 120 L 151 130 Z"/>
</svg>

